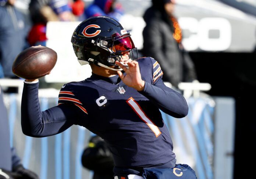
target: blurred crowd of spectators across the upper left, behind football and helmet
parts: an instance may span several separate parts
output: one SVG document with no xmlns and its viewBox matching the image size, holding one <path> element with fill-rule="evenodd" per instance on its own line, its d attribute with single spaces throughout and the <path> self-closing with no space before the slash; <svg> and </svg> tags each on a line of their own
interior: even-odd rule
<svg viewBox="0 0 256 179">
<path fill-rule="evenodd" d="M 83 21 L 107 15 L 120 19 L 123 9 L 115 0 L 95 0 L 86 6 L 83 0 L 31 0 L 31 23 L 25 23 L 14 5 L 16 0 L 0 0 L 0 78 L 17 78 L 11 70 L 15 57 L 25 48 L 46 45 L 49 21 Z M 31 25 L 32 24 L 32 25 Z"/>
</svg>

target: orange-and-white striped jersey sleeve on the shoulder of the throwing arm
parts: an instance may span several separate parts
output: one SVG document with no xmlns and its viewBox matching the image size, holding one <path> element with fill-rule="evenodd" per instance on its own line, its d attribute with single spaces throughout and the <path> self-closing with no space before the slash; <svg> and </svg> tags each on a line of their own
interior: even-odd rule
<svg viewBox="0 0 256 179">
<path fill-rule="evenodd" d="M 83 104 L 81 101 L 79 101 L 78 97 L 75 95 L 75 89 L 72 88 L 68 84 L 64 84 L 63 87 L 60 89 L 60 93 L 58 95 L 58 105 L 68 103 L 68 104 L 74 104 L 77 106 L 82 112 L 88 114 L 85 107 L 83 107 Z"/>
</svg>

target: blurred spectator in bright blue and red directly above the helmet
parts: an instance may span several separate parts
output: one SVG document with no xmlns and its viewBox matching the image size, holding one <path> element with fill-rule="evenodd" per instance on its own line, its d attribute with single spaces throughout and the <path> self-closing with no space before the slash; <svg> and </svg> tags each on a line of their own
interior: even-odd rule
<svg viewBox="0 0 256 179">
<path fill-rule="evenodd" d="M 124 14 L 121 4 L 116 3 L 116 0 L 94 0 L 94 2 L 85 9 L 86 18 L 95 16 L 107 16 L 117 21 Z"/>
</svg>

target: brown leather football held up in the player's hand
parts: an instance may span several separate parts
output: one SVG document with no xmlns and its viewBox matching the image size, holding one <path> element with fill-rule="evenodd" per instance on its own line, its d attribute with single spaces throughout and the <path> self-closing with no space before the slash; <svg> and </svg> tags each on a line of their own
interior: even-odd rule
<svg viewBox="0 0 256 179">
<path fill-rule="evenodd" d="M 25 79 L 48 74 L 57 62 L 57 53 L 45 46 L 32 46 L 22 51 L 13 62 L 13 73 Z"/>
</svg>

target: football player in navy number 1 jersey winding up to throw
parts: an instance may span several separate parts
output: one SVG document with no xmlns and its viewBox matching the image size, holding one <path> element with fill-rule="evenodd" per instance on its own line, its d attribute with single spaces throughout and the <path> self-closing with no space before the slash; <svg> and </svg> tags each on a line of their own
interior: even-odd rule
<svg viewBox="0 0 256 179">
<path fill-rule="evenodd" d="M 150 57 L 136 59 L 131 35 L 109 17 L 86 19 L 75 29 L 71 42 L 79 63 L 89 64 L 92 76 L 64 84 L 58 106 L 43 112 L 38 79 L 25 80 L 24 134 L 45 137 L 81 125 L 110 147 L 115 179 L 196 178 L 188 165 L 176 165 L 160 110 L 182 118 L 188 105 L 181 94 L 164 85 L 159 63 Z"/>
</svg>

